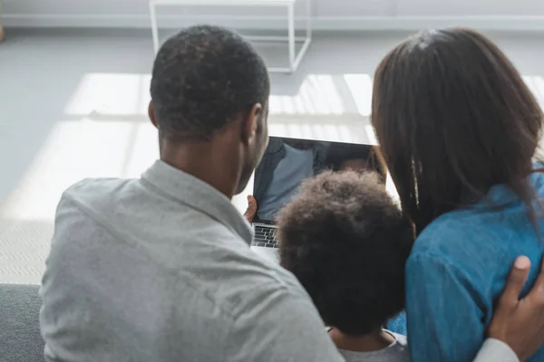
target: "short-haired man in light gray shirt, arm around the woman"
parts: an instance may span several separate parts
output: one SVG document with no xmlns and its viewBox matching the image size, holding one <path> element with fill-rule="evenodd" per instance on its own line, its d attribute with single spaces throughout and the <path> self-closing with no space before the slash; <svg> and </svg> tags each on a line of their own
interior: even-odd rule
<svg viewBox="0 0 544 362">
<path fill-rule="evenodd" d="M 295 277 L 249 250 L 230 202 L 267 147 L 268 93 L 263 61 L 237 33 L 196 26 L 164 43 L 149 111 L 160 161 L 141 179 L 85 180 L 58 207 L 40 315 L 47 361 L 342 360 Z M 538 329 L 544 310 L 523 307 L 508 304 L 497 329 L 520 355 L 533 345 L 510 336 L 512 320 Z M 501 342 L 486 348 L 517 360 Z"/>
</svg>

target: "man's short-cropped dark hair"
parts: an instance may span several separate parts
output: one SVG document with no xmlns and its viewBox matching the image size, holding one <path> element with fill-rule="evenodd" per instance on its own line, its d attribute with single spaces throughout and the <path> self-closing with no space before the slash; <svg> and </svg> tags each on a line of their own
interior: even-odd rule
<svg viewBox="0 0 544 362">
<path fill-rule="evenodd" d="M 267 68 L 238 33 L 192 26 L 164 43 L 151 80 L 160 137 L 209 140 L 256 104 L 267 105 Z"/>
</svg>

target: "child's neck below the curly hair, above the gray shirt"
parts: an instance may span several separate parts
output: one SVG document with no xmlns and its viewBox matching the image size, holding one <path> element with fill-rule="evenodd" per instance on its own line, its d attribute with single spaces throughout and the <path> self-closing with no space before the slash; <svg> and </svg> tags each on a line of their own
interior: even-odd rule
<svg viewBox="0 0 544 362">
<path fill-rule="evenodd" d="M 374 352 L 391 346 L 395 341 L 395 338 L 383 329 L 361 336 L 348 336 L 333 328 L 329 330 L 329 336 L 335 342 L 336 348 L 355 352 Z"/>
</svg>

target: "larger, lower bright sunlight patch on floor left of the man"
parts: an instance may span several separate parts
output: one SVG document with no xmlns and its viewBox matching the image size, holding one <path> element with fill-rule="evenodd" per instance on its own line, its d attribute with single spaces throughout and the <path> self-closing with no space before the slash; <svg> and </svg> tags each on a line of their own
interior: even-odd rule
<svg viewBox="0 0 544 362">
<path fill-rule="evenodd" d="M 0 208 L 0 217 L 53 220 L 63 191 L 88 177 L 133 177 L 158 158 L 157 132 L 125 121 L 62 121 Z"/>
</svg>

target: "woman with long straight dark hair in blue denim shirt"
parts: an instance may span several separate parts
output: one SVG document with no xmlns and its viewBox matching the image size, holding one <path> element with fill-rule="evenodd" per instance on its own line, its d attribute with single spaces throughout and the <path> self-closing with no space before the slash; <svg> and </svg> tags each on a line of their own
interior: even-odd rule
<svg viewBox="0 0 544 362">
<path fill-rule="evenodd" d="M 406 264 L 413 361 L 470 361 L 511 263 L 524 254 L 539 265 L 542 119 L 520 73 L 481 33 L 426 31 L 379 65 L 372 121 L 417 233 Z M 531 358 L 544 360 L 544 348 Z"/>
</svg>

